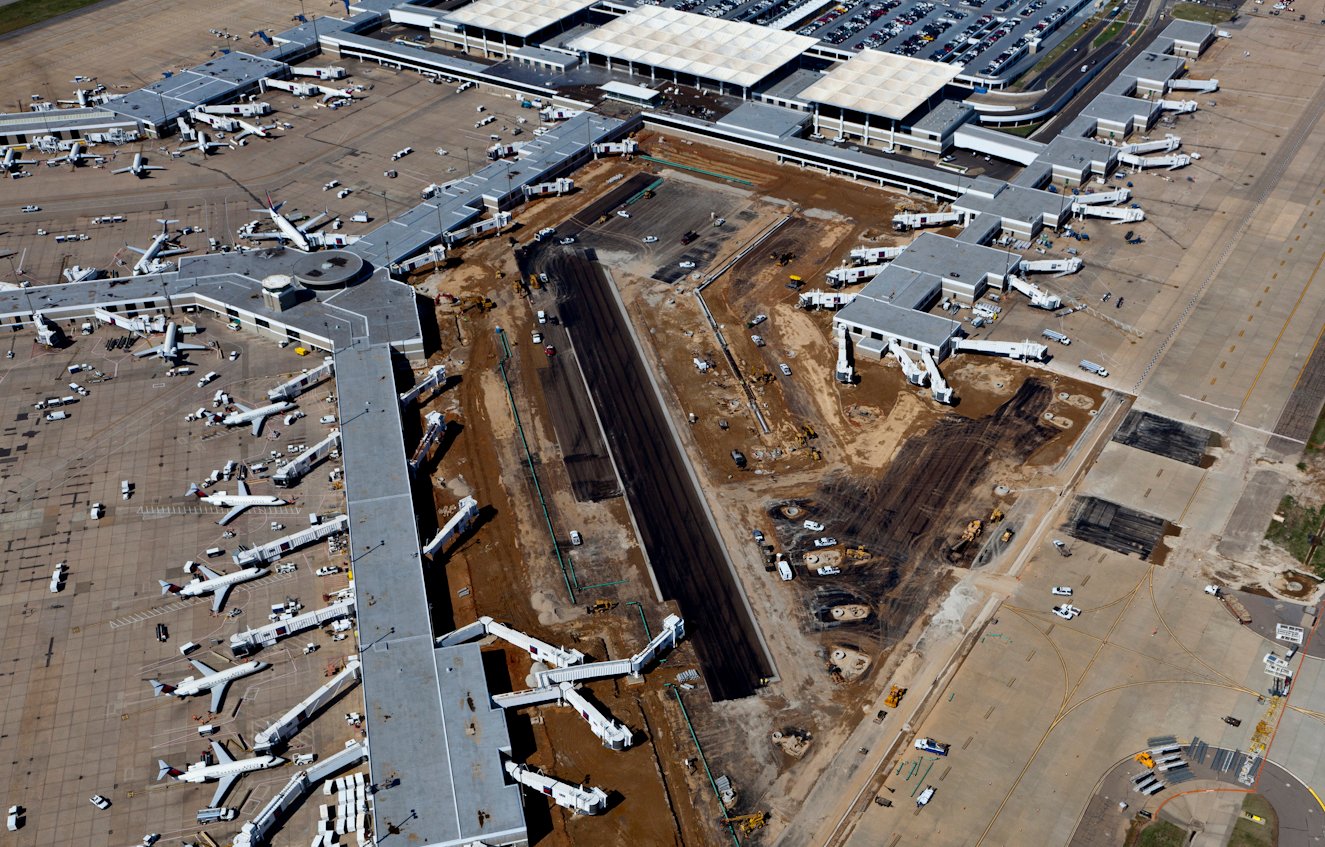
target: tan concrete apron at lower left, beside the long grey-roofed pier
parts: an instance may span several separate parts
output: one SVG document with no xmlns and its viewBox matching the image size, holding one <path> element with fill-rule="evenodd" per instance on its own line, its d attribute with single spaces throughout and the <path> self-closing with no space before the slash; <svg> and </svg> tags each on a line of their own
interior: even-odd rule
<svg viewBox="0 0 1325 847">
<path fill-rule="evenodd" d="M 217 321 L 179 313 L 175 319 L 196 323 L 199 341 L 220 342 L 224 355 L 192 353 L 193 374 L 167 376 L 162 359 L 134 358 L 106 342 L 122 337 L 99 329 L 74 333 L 70 346 L 48 350 L 30 333 L 16 334 L 15 357 L 0 359 L 0 425 L 4 447 L 0 468 L 4 492 L 0 528 L 0 644 L 7 657 L 7 708 L 0 718 L 0 757 L 9 766 L 0 777 L 7 803 L 26 809 L 25 826 L 11 835 L 16 844 L 122 844 L 146 832 L 193 839 L 195 811 L 208 806 L 213 785 L 156 781 L 158 760 L 184 769 L 215 740 L 236 758 L 257 730 L 310 695 L 330 668 L 352 653 L 354 640 L 333 640 L 331 632 L 310 630 L 261 651 L 272 667 L 229 687 L 220 713 L 208 712 L 204 697 L 180 701 L 152 696 L 150 679 L 174 684 L 197 676 L 180 655 L 188 642 L 199 647 L 189 659 L 213 669 L 235 663 L 228 639 L 268 622 L 268 607 L 295 599 L 306 608 L 325 604 L 323 594 L 347 585 L 346 570 L 315 577 L 314 570 L 341 557 L 326 542 L 282 559 L 294 565 L 236 586 L 221 614 L 211 598 L 163 596 L 158 581 L 186 583 L 186 561 L 217 571 L 231 563 L 240 545 L 265 543 L 307 526 L 307 513 L 335 514 L 341 492 L 327 481 L 326 465 L 292 489 L 277 489 L 270 451 L 286 455 L 288 444 L 311 443 L 325 435 L 321 415 L 330 384 L 306 395 L 306 418 L 289 425 L 268 422 L 254 437 L 248 427 L 207 428 L 186 422 L 199 407 L 211 408 L 220 388 L 256 404 L 266 388 L 297 372 L 306 359 L 293 349 L 278 349 L 246 334 L 231 333 Z M 159 338 L 159 337 L 158 337 Z M 9 347 L 9 345 L 5 345 Z M 146 345 L 139 341 L 136 349 Z M 231 351 L 238 351 L 236 359 Z M 69 366 L 86 363 L 70 375 Z M 197 387 L 196 375 L 213 370 L 217 379 Z M 97 372 L 102 375 L 98 376 Z M 77 380 L 87 394 L 62 406 L 68 418 L 46 420 L 33 404 L 72 394 Z M 227 528 L 216 525 L 224 509 L 188 497 L 191 482 L 201 482 L 228 460 L 249 468 L 254 494 L 278 493 L 292 505 L 253 508 Z M 122 482 L 130 482 L 127 497 Z M 233 492 L 235 482 L 211 488 Z M 93 518 L 93 504 L 102 508 Z M 276 526 L 282 529 L 277 530 Z M 227 537 L 233 532 L 233 537 Z M 221 555 L 205 550 L 220 547 Z M 50 590 L 52 570 L 64 562 L 66 578 Z M 307 651 L 306 646 L 314 646 Z M 359 710 L 351 692 L 325 716 L 295 736 L 284 754 L 330 754 L 351 729 L 341 712 Z M 209 724 L 216 733 L 199 737 Z M 248 774 L 236 783 L 224 806 L 238 809 L 233 823 L 209 827 L 217 842 L 229 840 L 238 823 L 252 815 L 292 775 L 289 766 Z M 89 797 L 110 801 L 95 809 Z M 314 805 L 297 811 L 293 832 L 311 832 Z"/>
</svg>

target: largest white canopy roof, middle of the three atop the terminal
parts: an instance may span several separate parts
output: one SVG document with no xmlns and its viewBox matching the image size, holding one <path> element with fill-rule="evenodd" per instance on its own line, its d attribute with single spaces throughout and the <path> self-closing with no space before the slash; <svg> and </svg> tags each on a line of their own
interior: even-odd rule
<svg viewBox="0 0 1325 847">
<path fill-rule="evenodd" d="M 644 5 L 567 46 L 749 87 L 815 44 L 790 32 Z"/>
</svg>

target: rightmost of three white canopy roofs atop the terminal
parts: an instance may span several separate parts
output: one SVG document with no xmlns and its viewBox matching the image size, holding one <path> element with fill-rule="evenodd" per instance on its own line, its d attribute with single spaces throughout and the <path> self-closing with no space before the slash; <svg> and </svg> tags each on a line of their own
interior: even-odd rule
<svg viewBox="0 0 1325 847">
<path fill-rule="evenodd" d="M 882 50 L 861 50 L 798 97 L 900 121 L 959 73 L 962 65 L 930 62 Z"/>
</svg>

